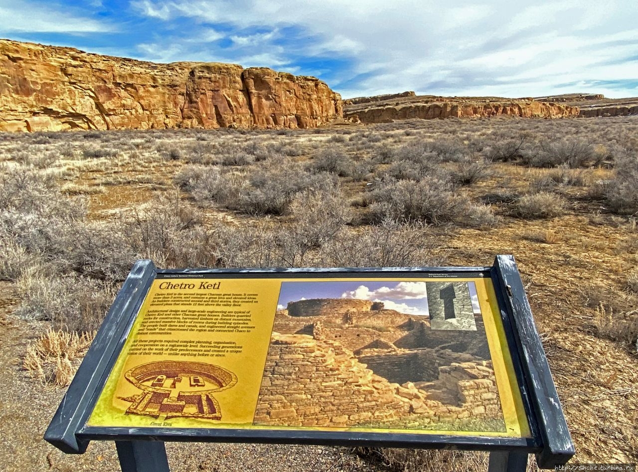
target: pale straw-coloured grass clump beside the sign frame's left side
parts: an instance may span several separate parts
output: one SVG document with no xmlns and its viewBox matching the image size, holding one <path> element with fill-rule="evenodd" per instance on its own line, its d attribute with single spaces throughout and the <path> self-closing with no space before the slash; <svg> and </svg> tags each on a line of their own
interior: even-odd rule
<svg viewBox="0 0 638 472">
<path fill-rule="evenodd" d="M 95 335 L 96 331 L 78 334 L 49 329 L 27 346 L 22 367 L 36 380 L 66 387 Z"/>
</svg>

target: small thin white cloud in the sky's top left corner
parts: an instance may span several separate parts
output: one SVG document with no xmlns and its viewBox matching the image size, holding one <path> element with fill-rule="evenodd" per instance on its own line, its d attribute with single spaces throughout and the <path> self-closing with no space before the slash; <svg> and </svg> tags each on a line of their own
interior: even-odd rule
<svg viewBox="0 0 638 472">
<path fill-rule="evenodd" d="M 0 0 L 0 34 L 6 33 L 105 33 L 114 27 L 91 18 L 73 15 L 72 11 L 36 4 L 32 1 Z"/>
</svg>

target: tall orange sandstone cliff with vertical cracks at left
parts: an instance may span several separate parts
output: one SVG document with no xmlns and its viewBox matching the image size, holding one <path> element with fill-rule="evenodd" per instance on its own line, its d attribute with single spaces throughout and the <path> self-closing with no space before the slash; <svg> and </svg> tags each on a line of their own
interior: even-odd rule
<svg viewBox="0 0 638 472">
<path fill-rule="evenodd" d="M 0 40 L 1 131 L 315 128 L 342 114 L 314 77 Z"/>
</svg>

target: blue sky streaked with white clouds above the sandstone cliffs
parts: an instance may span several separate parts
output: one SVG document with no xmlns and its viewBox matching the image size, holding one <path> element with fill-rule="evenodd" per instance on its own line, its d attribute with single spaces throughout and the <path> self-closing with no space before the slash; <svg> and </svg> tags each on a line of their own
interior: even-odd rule
<svg viewBox="0 0 638 472">
<path fill-rule="evenodd" d="M 0 0 L 0 37 L 270 67 L 343 98 L 638 96 L 635 0 Z"/>
</svg>

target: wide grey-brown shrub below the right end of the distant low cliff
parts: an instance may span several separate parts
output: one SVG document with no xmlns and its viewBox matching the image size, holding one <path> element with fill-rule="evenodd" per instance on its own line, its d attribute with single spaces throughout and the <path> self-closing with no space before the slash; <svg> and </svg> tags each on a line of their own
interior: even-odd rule
<svg viewBox="0 0 638 472">
<path fill-rule="evenodd" d="M 578 139 L 549 139 L 540 141 L 523 154 L 522 162 L 531 167 L 586 167 L 596 161 L 595 148 Z"/>
</svg>

